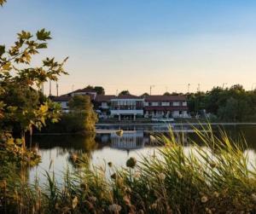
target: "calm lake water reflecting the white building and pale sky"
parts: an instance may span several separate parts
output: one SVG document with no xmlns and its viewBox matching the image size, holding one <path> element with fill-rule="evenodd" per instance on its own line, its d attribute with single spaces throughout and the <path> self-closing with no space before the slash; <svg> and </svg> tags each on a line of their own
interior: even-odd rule
<svg viewBox="0 0 256 214">
<path fill-rule="evenodd" d="M 174 131 L 183 133 L 184 147 L 189 147 L 189 139 L 196 139 L 195 133 L 188 126 L 174 126 Z M 225 125 L 223 126 L 233 139 L 244 136 L 247 140 L 249 152 L 254 155 L 256 151 L 256 125 Z M 90 165 L 104 166 L 112 162 L 115 167 L 125 166 L 130 157 L 142 159 L 142 156 L 153 155 L 162 145 L 155 141 L 155 134 L 166 134 L 167 125 L 157 126 L 108 126 L 97 127 L 100 133 L 96 136 L 79 135 L 50 135 L 33 136 L 32 144 L 38 145 L 42 162 L 33 167 L 29 173 L 32 182 L 38 176 L 40 182 L 45 181 L 44 171 L 55 171 L 55 176 L 60 179 L 62 173 L 73 168 L 70 157 L 73 153 L 87 153 L 90 156 Z M 114 130 L 125 130 L 123 136 L 117 136 Z M 213 126 L 218 134 L 218 127 Z"/>
</svg>

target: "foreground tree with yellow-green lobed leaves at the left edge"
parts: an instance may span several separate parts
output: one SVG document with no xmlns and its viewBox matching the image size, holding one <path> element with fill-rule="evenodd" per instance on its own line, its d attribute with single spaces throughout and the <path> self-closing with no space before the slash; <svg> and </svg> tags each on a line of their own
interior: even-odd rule
<svg viewBox="0 0 256 214">
<path fill-rule="evenodd" d="M 59 106 L 48 99 L 40 100 L 40 89 L 47 81 L 56 81 L 61 74 L 67 74 L 63 65 L 55 58 L 46 58 L 39 67 L 32 67 L 32 56 L 39 54 L 40 49 L 48 47 L 50 32 L 42 29 L 35 36 L 31 32 L 22 31 L 17 34 L 17 41 L 9 49 L 0 45 L 0 109 L 2 123 L 0 130 L 6 130 L 5 123 L 20 125 L 23 147 L 25 133 L 32 128 L 40 129 L 46 119 L 56 122 Z"/>
</svg>

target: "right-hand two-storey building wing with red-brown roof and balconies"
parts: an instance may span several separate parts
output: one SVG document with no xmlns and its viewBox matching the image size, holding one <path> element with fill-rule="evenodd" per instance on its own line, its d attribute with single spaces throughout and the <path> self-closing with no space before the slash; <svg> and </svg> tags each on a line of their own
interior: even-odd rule
<svg viewBox="0 0 256 214">
<path fill-rule="evenodd" d="M 188 118 L 188 104 L 185 95 L 144 96 L 145 118 Z"/>
</svg>

